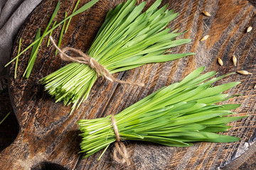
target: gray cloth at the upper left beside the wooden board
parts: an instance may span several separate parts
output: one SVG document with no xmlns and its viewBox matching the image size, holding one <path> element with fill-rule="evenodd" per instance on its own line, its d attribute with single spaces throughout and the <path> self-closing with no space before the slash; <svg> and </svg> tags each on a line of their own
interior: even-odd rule
<svg viewBox="0 0 256 170">
<path fill-rule="evenodd" d="M 42 0 L 0 0 L 0 90 L 6 87 L 11 46 L 15 36 L 31 11 Z"/>
</svg>

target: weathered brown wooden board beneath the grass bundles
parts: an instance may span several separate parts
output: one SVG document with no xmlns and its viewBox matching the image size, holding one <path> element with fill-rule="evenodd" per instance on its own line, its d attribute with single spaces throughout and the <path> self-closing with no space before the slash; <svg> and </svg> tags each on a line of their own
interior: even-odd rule
<svg viewBox="0 0 256 170">
<path fill-rule="evenodd" d="M 68 45 L 86 51 L 104 21 L 105 15 L 119 1 L 101 0 L 95 6 L 73 18 L 68 33 L 64 35 L 62 47 Z M 80 1 L 80 6 L 86 0 Z M 151 4 L 152 1 L 149 1 Z M 10 70 L 9 92 L 11 103 L 16 113 L 20 131 L 16 140 L 0 153 L 0 169 L 37 169 L 43 162 L 60 164 L 66 169 L 218 169 L 239 157 L 255 142 L 255 38 L 256 29 L 245 33 L 248 26 L 256 28 L 255 7 L 242 0 L 219 1 L 163 1 L 169 8 L 180 12 L 171 24 L 171 28 L 188 30 L 181 38 L 191 38 L 192 42 L 173 49 L 174 52 L 196 52 L 195 56 L 185 57 L 174 62 L 146 64 L 128 72 L 115 74 L 124 80 L 145 82 L 145 87 L 110 84 L 98 79 L 93 86 L 90 97 L 82 106 L 69 115 L 70 107 L 55 103 L 44 91 L 38 80 L 54 70 L 63 67 L 58 57 L 53 57 L 53 47 L 46 47 L 43 41 L 30 79 L 23 79 L 30 51 L 19 59 L 18 79 L 14 77 L 14 64 Z M 39 27 L 46 28 L 57 1 L 43 1 L 27 23 L 21 29 L 18 38 L 22 38 L 22 49 L 30 44 Z M 62 1 L 58 21 L 63 19 L 65 11 L 71 13 L 75 1 Z M 201 13 L 208 11 L 211 16 Z M 60 28 L 53 32 L 58 38 Z M 210 38 L 199 40 L 204 35 Z M 16 55 L 18 39 L 14 46 Z M 232 55 L 238 57 L 238 65 L 233 66 Z M 224 65 L 216 62 L 220 57 Z M 116 114 L 131 106 L 164 85 L 180 81 L 194 69 L 206 66 L 206 71 L 218 71 L 220 75 L 245 69 L 252 76 L 233 74 L 219 81 L 241 81 L 242 84 L 228 91 L 229 94 L 241 94 L 223 103 L 240 103 L 236 109 L 239 115 L 250 117 L 230 123 L 233 128 L 227 135 L 241 137 L 233 143 L 196 142 L 193 147 L 164 147 L 146 142 L 127 142 L 132 154 L 132 166 L 124 167 L 114 164 L 110 157 L 112 148 L 108 149 L 100 161 L 100 152 L 87 159 L 78 154 L 80 137 L 76 122 L 81 118 L 100 118 Z"/>
</svg>

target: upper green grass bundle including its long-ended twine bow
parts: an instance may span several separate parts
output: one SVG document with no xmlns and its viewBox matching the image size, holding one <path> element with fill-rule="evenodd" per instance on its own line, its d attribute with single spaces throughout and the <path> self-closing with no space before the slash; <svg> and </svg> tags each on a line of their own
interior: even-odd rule
<svg viewBox="0 0 256 170">
<path fill-rule="evenodd" d="M 157 0 L 142 13 L 146 2 L 138 6 L 136 0 L 128 0 L 111 9 L 105 23 L 98 31 L 87 54 L 75 48 L 60 49 L 60 57 L 71 63 L 42 79 L 46 90 L 55 101 L 65 105 L 73 103 L 72 111 L 85 101 L 98 76 L 112 82 L 143 86 L 137 82 L 121 81 L 112 76 L 116 72 L 133 69 L 152 62 L 166 62 L 193 53 L 170 54 L 171 47 L 183 45 L 191 40 L 179 39 L 177 30 L 166 28 L 178 13 L 167 9 L 168 4 L 158 9 Z M 65 52 L 74 52 L 78 57 L 70 57 Z M 71 112 L 72 112 L 71 111 Z"/>
</svg>

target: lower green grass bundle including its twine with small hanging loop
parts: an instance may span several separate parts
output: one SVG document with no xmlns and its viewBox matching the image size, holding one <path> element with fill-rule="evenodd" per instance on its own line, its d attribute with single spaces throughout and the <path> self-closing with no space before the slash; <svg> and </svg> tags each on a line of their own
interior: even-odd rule
<svg viewBox="0 0 256 170">
<path fill-rule="evenodd" d="M 233 97 L 222 93 L 240 82 L 212 87 L 211 84 L 228 74 L 210 79 L 216 72 L 201 74 L 203 69 L 196 69 L 181 82 L 159 89 L 117 115 L 80 120 L 80 152 L 85 152 L 85 157 L 89 157 L 105 148 L 104 154 L 114 142 L 114 160 L 129 164 L 129 155 L 122 143 L 124 140 L 156 142 L 172 147 L 189 147 L 191 142 L 196 141 L 240 140 L 215 133 L 226 132 L 230 128 L 227 123 L 245 118 L 226 116 L 235 114 L 230 110 L 238 108 L 239 104 L 215 104 Z"/>
</svg>

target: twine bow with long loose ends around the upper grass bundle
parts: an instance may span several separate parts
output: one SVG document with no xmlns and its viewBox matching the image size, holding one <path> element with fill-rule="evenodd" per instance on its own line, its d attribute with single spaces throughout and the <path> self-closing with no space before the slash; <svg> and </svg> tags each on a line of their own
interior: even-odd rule
<svg viewBox="0 0 256 170">
<path fill-rule="evenodd" d="M 53 37 L 50 36 L 50 41 L 53 43 L 53 46 L 60 52 L 60 58 L 62 60 L 65 60 L 67 62 L 78 62 L 82 64 L 89 65 L 92 69 L 95 70 L 97 75 L 102 75 L 102 77 L 105 77 L 107 80 L 111 82 L 118 82 L 119 84 L 130 84 L 130 85 L 136 85 L 136 86 L 144 86 L 143 83 L 133 83 L 130 81 L 122 81 L 119 79 L 116 79 L 112 76 L 110 71 L 108 71 L 102 64 L 97 62 L 94 58 L 90 57 L 89 55 L 83 53 L 81 50 L 75 49 L 73 47 L 64 47 L 63 49 L 60 49 L 58 45 L 56 45 L 55 41 L 53 40 Z M 77 53 L 78 57 L 70 57 L 65 52 L 72 51 Z"/>
</svg>

